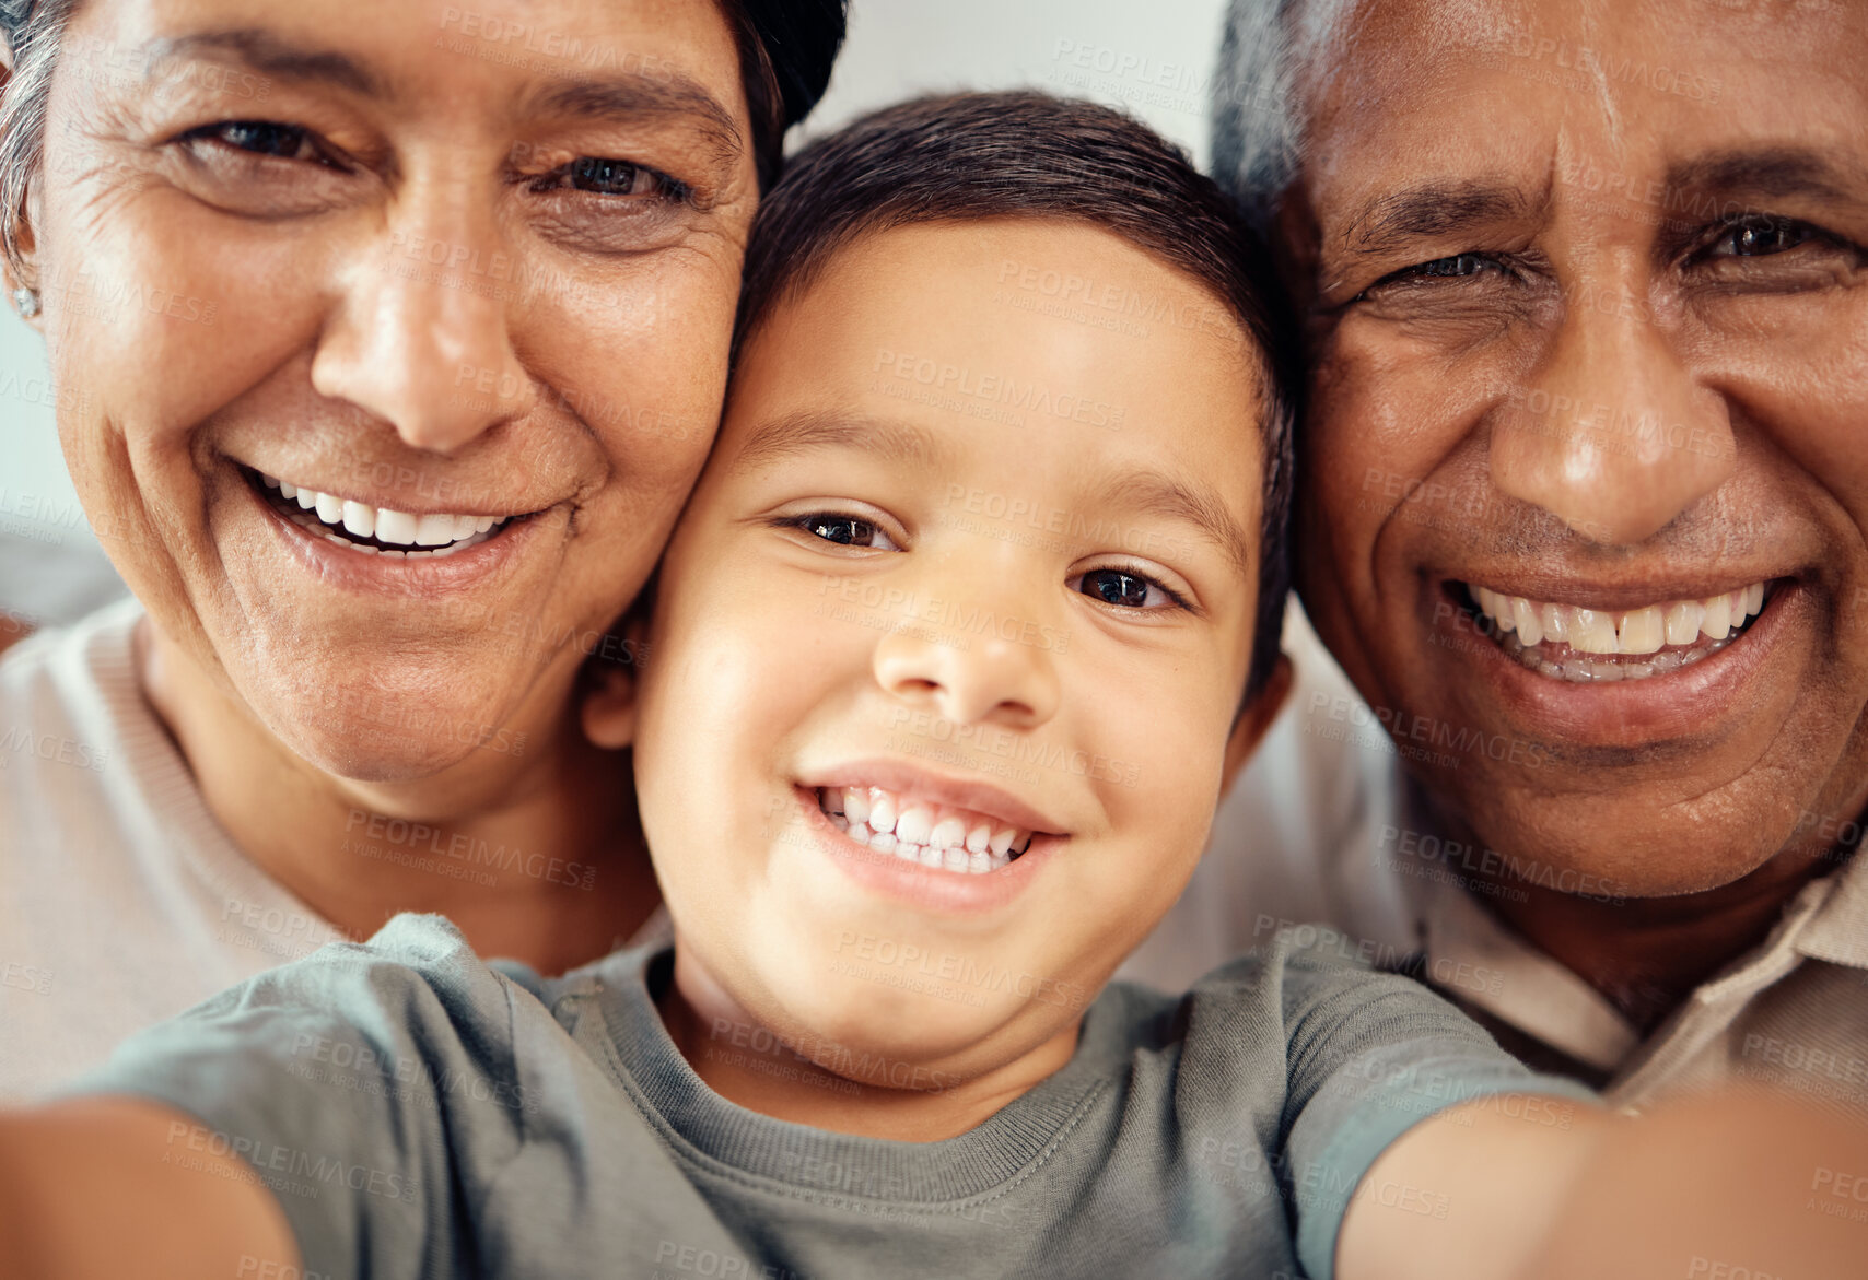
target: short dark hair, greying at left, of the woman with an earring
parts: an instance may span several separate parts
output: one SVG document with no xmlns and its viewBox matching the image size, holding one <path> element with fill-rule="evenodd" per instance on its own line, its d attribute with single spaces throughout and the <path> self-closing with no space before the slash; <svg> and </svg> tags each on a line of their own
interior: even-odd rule
<svg viewBox="0 0 1868 1280">
<path fill-rule="evenodd" d="M 45 157 L 45 103 L 65 24 L 82 0 L 0 0 L 0 37 L 13 75 L 0 93 L 0 252 L 30 278 L 21 250 L 26 192 Z M 753 118 L 760 190 L 777 181 L 785 131 L 811 114 L 829 86 L 848 26 L 848 0 L 717 0 L 740 54 Z"/>
</svg>

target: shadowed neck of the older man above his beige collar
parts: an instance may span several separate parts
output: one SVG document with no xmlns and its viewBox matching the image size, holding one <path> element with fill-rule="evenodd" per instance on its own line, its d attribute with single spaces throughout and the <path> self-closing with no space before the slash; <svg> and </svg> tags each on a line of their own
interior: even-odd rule
<svg viewBox="0 0 1868 1280">
<path fill-rule="evenodd" d="M 1868 797 L 1857 797 L 1857 808 L 1862 802 Z M 1435 814 L 1435 823 L 1459 828 L 1444 814 Z M 1461 838 L 1470 840 L 1470 832 Z M 1849 856 L 1849 849 L 1799 838 L 1730 884 L 1672 897 L 1582 897 L 1487 866 L 1474 879 L 1511 892 L 1474 899 L 1590 983 L 1646 1036 L 1696 987 L 1762 944 L 1804 884 Z"/>
</svg>

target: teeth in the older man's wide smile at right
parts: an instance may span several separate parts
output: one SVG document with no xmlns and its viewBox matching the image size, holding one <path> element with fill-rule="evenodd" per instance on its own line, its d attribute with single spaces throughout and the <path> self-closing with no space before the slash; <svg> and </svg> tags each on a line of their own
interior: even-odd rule
<svg viewBox="0 0 1868 1280">
<path fill-rule="evenodd" d="M 1466 590 L 1506 653 L 1552 679 L 1586 683 L 1646 679 L 1717 653 L 1763 610 L 1767 584 L 1629 610 L 1547 605 L 1483 586 Z"/>
</svg>

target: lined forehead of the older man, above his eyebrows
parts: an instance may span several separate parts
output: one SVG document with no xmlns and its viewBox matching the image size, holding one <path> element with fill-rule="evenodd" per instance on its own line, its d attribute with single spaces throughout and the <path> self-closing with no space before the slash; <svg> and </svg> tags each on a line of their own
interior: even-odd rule
<svg viewBox="0 0 1868 1280">
<path fill-rule="evenodd" d="M 1537 203 L 1578 162 L 1666 181 L 1793 144 L 1849 172 L 1868 160 L 1868 4 L 1362 0 L 1304 84 L 1304 183 L 1336 231 L 1403 175 Z"/>
</svg>

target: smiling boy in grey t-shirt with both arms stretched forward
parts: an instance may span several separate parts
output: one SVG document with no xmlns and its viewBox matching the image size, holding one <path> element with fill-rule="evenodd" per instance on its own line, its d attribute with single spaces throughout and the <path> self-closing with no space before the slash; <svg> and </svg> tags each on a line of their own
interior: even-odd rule
<svg viewBox="0 0 1868 1280">
<path fill-rule="evenodd" d="M 409 916 L 226 993 L 90 1082 L 149 1101 L 0 1121 L 22 1267 L 1844 1274 L 1799 1177 L 1859 1134 L 1726 1106 L 1634 1151 L 1287 940 L 1106 985 L 1287 681 L 1289 414 L 1210 183 L 1104 108 L 928 99 L 760 218 L 639 702 L 587 707 L 637 746 L 672 953 L 542 981 Z"/>
</svg>

